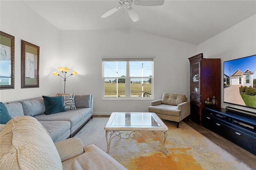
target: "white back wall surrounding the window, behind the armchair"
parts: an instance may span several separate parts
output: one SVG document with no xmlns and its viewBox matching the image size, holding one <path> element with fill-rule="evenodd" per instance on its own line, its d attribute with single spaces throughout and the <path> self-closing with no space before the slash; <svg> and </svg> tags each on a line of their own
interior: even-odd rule
<svg viewBox="0 0 256 170">
<path fill-rule="evenodd" d="M 94 114 L 147 112 L 151 102 L 102 100 L 102 56 L 155 56 L 154 99 L 163 92 L 189 99 L 188 58 L 196 55 L 196 45 L 131 30 L 61 31 L 61 38 L 63 66 L 78 72 L 67 79 L 66 93 L 94 95 Z"/>
</svg>

